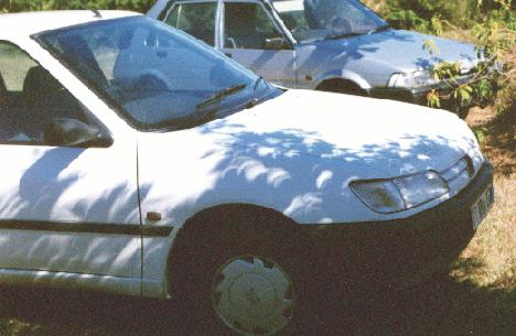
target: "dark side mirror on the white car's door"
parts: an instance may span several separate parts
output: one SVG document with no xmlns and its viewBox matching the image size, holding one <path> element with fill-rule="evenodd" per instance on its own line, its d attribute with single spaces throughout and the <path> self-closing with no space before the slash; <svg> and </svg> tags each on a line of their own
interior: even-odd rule
<svg viewBox="0 0 516 336">
<path fill-rule="evenodd" d="M 112 139 L 100 129 L 77 119 L 54 118 L 44 128 L 44 141 L 50 145 L 100 147 L 112 144 Z"/>
</svg>

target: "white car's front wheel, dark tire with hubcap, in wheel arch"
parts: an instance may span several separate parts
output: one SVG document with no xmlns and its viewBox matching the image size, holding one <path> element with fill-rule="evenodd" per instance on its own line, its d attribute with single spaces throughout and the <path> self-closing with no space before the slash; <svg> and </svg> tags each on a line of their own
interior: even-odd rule
<svg viewBox="0 0 516 336">
<path fill-rule="evenodd" d="M 314 269 L 307 243 L 289 230 L 265 230 L 259 224 L 268 216 L 209 219 L 217 229 L 186 229 L 173 257 L 179 263 L 170 274 L 172 296 L 189 321 L 185 334 L 305 333 L 301 322 L 314 318 L 307 302 L 315 306 L 310 283 L 316 283 L 308 277 L 307 269 Z"/>
</svg>

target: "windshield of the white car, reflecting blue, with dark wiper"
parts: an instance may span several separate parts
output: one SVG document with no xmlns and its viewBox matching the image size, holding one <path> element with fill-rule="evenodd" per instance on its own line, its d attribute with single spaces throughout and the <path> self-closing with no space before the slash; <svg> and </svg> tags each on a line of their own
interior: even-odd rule
<svg viewBox="0 0 516 336">
<path fill-rule="evenodd" d="M 37 40 L 143 130 L 191 128 L 281 93 L 204 43 L 146 17 L 45 32 Z"/>
</svg>

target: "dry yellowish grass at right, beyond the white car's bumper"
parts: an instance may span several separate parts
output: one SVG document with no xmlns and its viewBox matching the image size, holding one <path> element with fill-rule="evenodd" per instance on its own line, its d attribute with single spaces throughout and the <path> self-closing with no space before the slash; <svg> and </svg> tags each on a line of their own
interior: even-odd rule
<svg viewBox="0 0 516 336">
<path fill-rule="evenodd" d="M 514 62 L 514 51 L 512 62 Z M 515 98 L 516 93 L 508 95 Z M 495 165 L 495 205 L 458 260 L 452 275 L 479 286 L 516 291 L 516 109 L 472 109 L 466 121 L 481 131 L 484 154 Z"/>
</svg>

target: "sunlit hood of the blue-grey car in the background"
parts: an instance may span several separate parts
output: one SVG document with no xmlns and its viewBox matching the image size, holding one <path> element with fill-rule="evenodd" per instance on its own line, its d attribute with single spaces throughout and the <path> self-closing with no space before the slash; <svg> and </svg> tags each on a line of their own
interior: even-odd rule
<svg viewBox="0 0 516 336">
<path fill-rule="evenodd" d="M 423 48 L 427 40 L 436 42 L 438 47 L 432 54 Z M 402 30 L 388 30 L 322 43 L 329 43 L 331 47 L 340 51 L 348 51 L 343 54 L 347 62 L 356 59 L 389 64 L 399 72 L 427 68 L 441 62 L 461 62 L 464 68 L 471 68 L 479 59 L 476 46 L 473 44 Z"/>
</svg>

